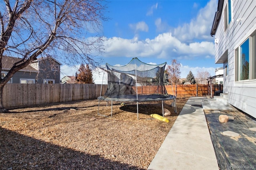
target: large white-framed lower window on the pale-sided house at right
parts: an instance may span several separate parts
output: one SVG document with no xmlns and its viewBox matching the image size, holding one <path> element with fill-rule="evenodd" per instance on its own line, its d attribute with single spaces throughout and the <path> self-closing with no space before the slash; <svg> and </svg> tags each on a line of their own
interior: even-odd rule
<svg viewBox="0 0 256 170">
<path fill-rule="evenodd" d="M 256 31 L 235 49 L 235 81 L 256 79 Z"/>
</svg>

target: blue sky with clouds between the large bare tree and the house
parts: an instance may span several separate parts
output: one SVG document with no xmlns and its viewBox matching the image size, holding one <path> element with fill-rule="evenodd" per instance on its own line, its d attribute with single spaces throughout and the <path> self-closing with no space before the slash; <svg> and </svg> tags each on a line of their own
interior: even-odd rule
<svg viewBox="0 0 256 170">
<path fill-rule="evenodd" d="M 122 66 L 134 57 L 151 64 L 172 59 L 189 71 L 215 75 L 214 37 L 210 36 L 217 0 L 114 0 L 107 6 L 100 33 L 106 37 L 103 65 Z M 61 66 L 61 78 L 74 75 L 79 65 Z"/>
</svg>

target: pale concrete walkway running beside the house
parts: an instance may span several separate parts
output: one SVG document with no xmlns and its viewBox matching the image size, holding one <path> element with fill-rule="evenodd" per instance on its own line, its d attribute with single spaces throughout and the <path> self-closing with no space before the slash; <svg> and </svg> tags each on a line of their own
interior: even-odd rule
<svg viewBox="0 0 256 170">
<path fill-rule="evenodd" d="M 202 99 L 190 97 L 148 170 L 219 170 Z"/>
</svg>

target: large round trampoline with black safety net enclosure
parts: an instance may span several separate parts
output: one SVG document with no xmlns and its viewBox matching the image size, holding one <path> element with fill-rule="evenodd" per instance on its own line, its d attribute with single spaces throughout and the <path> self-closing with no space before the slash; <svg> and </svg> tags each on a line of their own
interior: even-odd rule
<svg viewBox="0 0 256 170">
<path fill-rule="evenodd" d="M 104 73 L 108 73 L 108 85 L 105 95 L 98 97 L 98 115 L 101 115 L 99 108 L 102 100 L 111 101 L 111 117 L 113 101 L 136 102 L 137 119 L 139 102 L 162 101 L 162 115 L 164 117 L 164 101 L 173 100 L 174 111 L 177 112 L 176 96 L 169 95 L 164 86 L 165 66 L 166 62 L 160 65 L 150 65 L 143 63 L 138 58 L 133 58 L 130 63 L 122 67 L 115 67 L 106 63 Z"/>
</svg>

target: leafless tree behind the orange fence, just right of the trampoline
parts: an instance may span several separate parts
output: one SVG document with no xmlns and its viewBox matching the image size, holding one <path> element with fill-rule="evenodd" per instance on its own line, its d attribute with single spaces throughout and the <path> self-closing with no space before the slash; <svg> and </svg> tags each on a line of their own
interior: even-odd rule
<svg viewBox="0 0 256 170">
<path fill-rule="evenodd" d="M 169 74 L 170 81 L 174 84 L 180 84 L 180 62 L 176 59 L 172 59 L 172 64 L 168 65 L 167 72 Z"/>
</svg>

